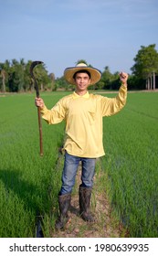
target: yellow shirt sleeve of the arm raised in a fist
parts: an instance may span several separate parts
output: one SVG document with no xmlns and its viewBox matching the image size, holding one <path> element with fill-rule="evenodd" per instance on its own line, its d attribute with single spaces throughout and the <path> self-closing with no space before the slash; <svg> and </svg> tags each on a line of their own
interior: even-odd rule
<svg viewBox="0 0 158 256">
<path fill-rule="evenodd" d="M 102 116 L 111 116 L 121 109 L 126 104 L 127 86 L 121 85 L 118 95 L 115 98 L 101 97 L 101 112 Z"/>
</svg>

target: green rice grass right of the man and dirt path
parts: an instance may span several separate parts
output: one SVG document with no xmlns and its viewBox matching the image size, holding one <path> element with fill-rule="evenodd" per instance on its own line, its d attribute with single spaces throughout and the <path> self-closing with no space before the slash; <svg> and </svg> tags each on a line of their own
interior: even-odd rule
<svg viewBox="0 0 158 256">
<path fill-rule="evenodd" d="M 103 165 L 116 215 L 131 237 L 158 235 L 158 93 L 132 93 L 104 120 Z"/>
</svg>

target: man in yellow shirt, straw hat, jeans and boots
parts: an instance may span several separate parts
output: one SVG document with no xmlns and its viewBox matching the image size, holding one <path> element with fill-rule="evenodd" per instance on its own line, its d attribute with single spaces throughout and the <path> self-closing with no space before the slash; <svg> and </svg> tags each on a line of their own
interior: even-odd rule
<svg viewBox="0 0 158 256">
<path fill-rule="evenodd" d="M 102 117 L 120 112 L 126 103 L 128 74 L 121 72 L 121 88 L 115 98 L 90 94 L 88 87 L 100 80 L 99 69 L 79 63 L 65 69 L 64 78 L 75 85 L 75 91 L 60 99 L 47 110 L 44 101 L 36 98 L 43 119 L 49 124 L 66 122 L 64 144 L 65 162 L 62 186 L 58 193 L 59 218 L 56 229 L 63 229 L 68 222 L 71 191 L 75 184 L 79 162 L 81 162 L 81 184 L 79 185 L 79 214 L 85 221 L 95 219 L 90 213 L 90 197 L 93 187 L 96 158 L 105 155 L 102 144 Z"/>
</svg>

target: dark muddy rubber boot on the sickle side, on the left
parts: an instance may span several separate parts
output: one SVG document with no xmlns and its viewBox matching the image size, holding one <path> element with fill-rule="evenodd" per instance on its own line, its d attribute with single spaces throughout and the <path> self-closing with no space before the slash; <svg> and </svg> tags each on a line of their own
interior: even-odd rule
<svg viewBox="0 0 158 256">
<path fill-rule="evenodd" d="M 56 221 L 56 229 L 64 229 L 66 223 L 68 222 L 68 209 L 70 207 L 71 195 L 65 194 L 58 196 L 59 205 L 59 218 Z"/>
</svg>

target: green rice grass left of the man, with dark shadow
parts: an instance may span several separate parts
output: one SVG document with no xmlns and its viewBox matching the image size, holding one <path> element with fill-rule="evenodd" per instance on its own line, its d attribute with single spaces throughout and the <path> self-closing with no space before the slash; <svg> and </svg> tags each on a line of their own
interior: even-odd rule
<svg viewBox="0 0 158 256">
<path fill-rule="evenodd" d="M 60 96 L 45 97 L 47 104 L 54 104 Z M 35 237 L 36 216 L 47 216 L 52 204 L 57 205 L 60 173 L 56 161 L 64 125 L 58 129 L 42 123 L 41 157 L 34 98 L 0 98 L 0 237 Z"/>
</svg>

